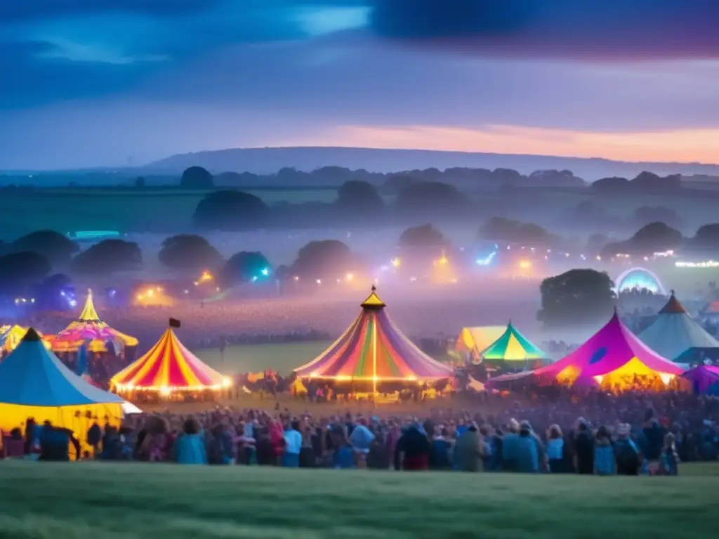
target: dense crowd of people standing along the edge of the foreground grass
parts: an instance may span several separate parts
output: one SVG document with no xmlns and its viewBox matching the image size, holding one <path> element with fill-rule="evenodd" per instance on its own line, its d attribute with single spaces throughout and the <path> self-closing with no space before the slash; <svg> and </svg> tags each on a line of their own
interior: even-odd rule
<svg viewBox="0 0 719 539">
<path fill-rule="evenodd" d="M 674 392 L 579 395 L 560 387 L 526 402 L 508 398 L 515 397 L 488 395 L 463 410 L 419 416 L 217 407 L 131 415 L 121 428 L 95 418 L 84 441 L 29 420 L 13 436 L 47 460 L 676 475 L 681 462 L 718 459 L 719 400 Z"/>
</svg>

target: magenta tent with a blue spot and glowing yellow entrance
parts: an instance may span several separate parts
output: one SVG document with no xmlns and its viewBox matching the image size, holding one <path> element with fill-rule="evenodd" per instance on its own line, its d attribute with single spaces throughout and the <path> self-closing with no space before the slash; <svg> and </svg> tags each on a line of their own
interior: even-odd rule
<svg viewBox="0 0 719 539">
<path fill-rule="evenodd" d="M 496 384 L 531 377 L 567 385 L 600 384 L 608 389 L 623 389 L 635 376 L 658 377 L 664 384 L 669 384 L 683 372 L 681 367 L 641 342 L 621 323 L 615 312 L 603 328 L 564 359 L 534 371 L 496 377 L 490 382 Z"/>
</svg>

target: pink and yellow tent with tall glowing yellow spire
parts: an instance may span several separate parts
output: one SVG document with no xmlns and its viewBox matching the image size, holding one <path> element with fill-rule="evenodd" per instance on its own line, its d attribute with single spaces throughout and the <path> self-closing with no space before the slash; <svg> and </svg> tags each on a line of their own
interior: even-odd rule
<svg viewBox="0 0 719 539">
<path fill-rule="evenodd" d="M 45 336 L 45 340 L 55 352 L 76 352 L 83 344 L 90 352 L 106 352 L 108 342 L 137 346 L 137 338 L 120 333 L 100 320 L 92 300 L 92 290 L 88 290 L 80 317 L 57 335 Z"/>
</svg>

